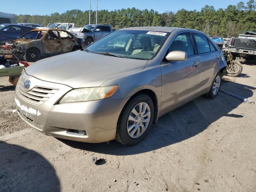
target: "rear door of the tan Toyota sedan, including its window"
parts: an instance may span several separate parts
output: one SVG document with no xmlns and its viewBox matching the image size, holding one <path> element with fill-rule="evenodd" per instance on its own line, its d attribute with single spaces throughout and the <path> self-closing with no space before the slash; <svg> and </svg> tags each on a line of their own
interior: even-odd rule
<svg viewBox="0 0 256 192">
<path fill-rule="evenodd" d="M 220 54 L 206 36 L 199 33 L 192 33 L 196 43 L 196 49 L 200 60 L 200 74 L 197 93 L 210 87 L 216 68 L 220 65 Z"/>
</svg>

